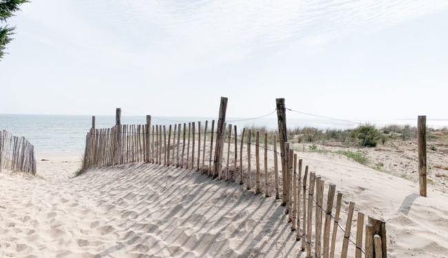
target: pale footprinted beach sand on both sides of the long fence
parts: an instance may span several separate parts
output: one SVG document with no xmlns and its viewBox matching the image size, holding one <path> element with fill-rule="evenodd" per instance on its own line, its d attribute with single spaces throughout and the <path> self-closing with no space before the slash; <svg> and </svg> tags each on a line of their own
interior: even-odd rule
<svg viewBox="0 0 448 258">
<path fill-rule="evenodd" d="M 418 197 L 415 183 L 345 158 L 299 155 L 336 184 L 345 201 L 387 221 L 390 257 L 448 257 L 447 195 L 429 190 L 428 198 Z M 141 163 L 70 178 L 80 157 L 38 157 L 50 161 L 39 161 L 37 178 L 0 173 L 0 257 L 301 255 L 273 197 L 198 172 Z"/>
</svg>

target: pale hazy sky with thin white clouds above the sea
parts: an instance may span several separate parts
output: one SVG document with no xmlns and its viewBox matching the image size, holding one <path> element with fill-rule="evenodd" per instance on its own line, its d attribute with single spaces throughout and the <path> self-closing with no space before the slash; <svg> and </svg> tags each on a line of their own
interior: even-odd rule
<svg viewBox="0 0 448 258">
<path fill-rule="evenodd" d="M 448 1 L 34 0 L 0 114 L 448 118 Z"/>
</svg>

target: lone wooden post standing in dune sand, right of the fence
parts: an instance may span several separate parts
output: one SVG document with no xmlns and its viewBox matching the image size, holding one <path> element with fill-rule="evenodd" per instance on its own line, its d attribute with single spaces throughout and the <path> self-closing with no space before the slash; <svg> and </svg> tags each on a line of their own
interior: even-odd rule
<svg viewBox="0 0 448 258">
<path fill-rule="evenodd" d="M 423 197 L 427 197 L 426 170 L 426 116 L 418 116 L 418 182 Z"/>
</svg>

